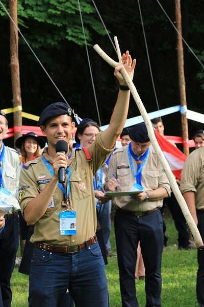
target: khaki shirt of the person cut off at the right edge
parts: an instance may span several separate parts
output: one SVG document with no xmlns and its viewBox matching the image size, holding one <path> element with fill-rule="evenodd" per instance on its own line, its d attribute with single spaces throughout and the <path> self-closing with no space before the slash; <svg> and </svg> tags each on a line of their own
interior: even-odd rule
<svg viewBox="0 0 204 307">
<path fill-rule="evenodd" d="M 181 193 L 195 192 L 195 207 L 204 209 L 204 147 L 191 152 L 184 163 Z"/>
</svg>

